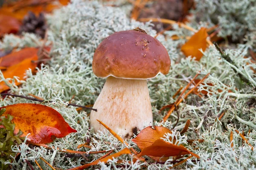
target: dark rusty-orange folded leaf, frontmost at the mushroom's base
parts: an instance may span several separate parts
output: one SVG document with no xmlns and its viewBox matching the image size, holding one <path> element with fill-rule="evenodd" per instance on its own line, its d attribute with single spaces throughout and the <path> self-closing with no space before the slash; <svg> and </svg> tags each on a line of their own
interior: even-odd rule
<svg viewBox="0 0 256 170">
<path fill-rule="evenodd" d="M 138 157 L 143 155 L 148 156 L 179 156 L 191 154 L 197 158 L 200 158 L 197 154 L 190 152 L 186 149 L 186 147 L 182 145 L 171 144 L 169 142 L 165 142 L 162 139 L 156 140 L 153 144 L 148 147 L 144 147 L 140 153 L 138 153 Z"/>
</svg>

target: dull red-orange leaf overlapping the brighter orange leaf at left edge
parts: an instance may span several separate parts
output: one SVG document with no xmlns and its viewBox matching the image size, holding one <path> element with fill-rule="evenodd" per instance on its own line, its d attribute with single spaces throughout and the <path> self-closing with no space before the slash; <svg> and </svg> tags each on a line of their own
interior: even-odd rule
<svg viewBox="0 0 256 170">
<path fill-rule="evenodd" d="M 2 62 L 0 62 L 0 66 L 2 67 L 10 67 L 12 65 L 16 65 L 23 61 L 24 59 L 34 57 L 37 55 L 38 48 L 23 48 L 20 51 L 12 52 L 2 58 Z"/>
</svg>

